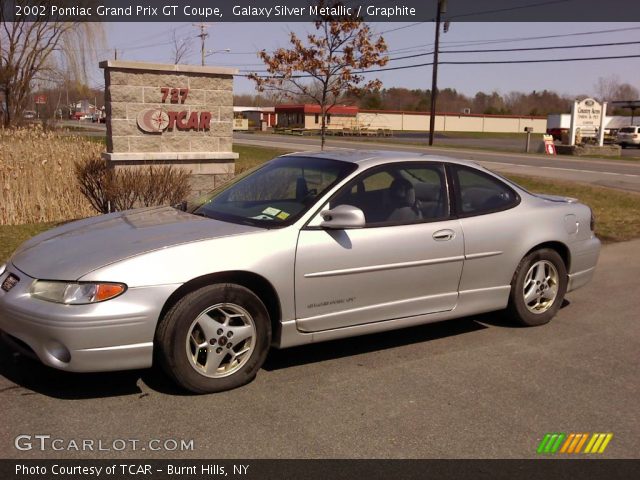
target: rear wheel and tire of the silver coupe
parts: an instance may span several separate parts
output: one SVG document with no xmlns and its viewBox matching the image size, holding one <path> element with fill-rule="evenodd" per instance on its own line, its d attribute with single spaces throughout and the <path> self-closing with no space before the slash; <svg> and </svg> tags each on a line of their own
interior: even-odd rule
<svg viewBox="0 0 640 480">
<path fill-rule="evenodd" d="M 567 268 L 550 248 L 522 259 L 511 281 L 508 316 L 521 325 L 544 325 L 554 317 L 567 291 Z"/>
</svg>

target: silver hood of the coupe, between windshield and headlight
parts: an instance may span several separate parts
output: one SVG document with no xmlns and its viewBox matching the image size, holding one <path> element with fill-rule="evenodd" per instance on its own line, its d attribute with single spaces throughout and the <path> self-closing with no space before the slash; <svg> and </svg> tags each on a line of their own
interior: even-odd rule
<svg viewBox="0 0 640 480">
<path fill-rule="evenodd" d="M 18 248 L 11 263 L 34 278 L 76 280 L 152 250 L 261 230 L 171 207 L 143 208 L 71 222 L 37 235 Z"/>
</svg>

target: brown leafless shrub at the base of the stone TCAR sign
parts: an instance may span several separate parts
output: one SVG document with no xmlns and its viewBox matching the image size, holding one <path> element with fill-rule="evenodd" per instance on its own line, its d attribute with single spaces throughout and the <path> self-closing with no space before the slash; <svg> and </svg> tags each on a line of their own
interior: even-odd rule
<svg viewBox="0 0 640 480">
<path fill-rule="evenodd" d="M 188 172 L 171 165 L 113 169 L 92 158 L 76 162 L 75 174 L 80 191 L 101 213 L 176 204 L 189 194 Z"/>
</svg>

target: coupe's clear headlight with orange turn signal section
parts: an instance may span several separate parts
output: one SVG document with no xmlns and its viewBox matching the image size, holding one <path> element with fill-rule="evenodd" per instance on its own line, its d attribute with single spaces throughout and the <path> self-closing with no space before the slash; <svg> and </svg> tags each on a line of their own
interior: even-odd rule
<svg viewBox="0 0 640 480">
<path fill-rule="evenodd" d="M 48 302 L 67 305 L 84 305 L 104 302 L 125 292 L 122 283 L 52 282 L 36 280 L 31 286 L 31 295 Z"/>
</svg>

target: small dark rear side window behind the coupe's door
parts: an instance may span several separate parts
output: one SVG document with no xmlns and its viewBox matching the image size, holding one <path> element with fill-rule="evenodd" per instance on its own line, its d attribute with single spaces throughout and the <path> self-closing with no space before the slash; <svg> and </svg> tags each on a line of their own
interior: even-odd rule
<svg viewBox="0 0 640 480">
<path fill-rule="evenodd" d="M 499 179 L 473 168 L 454 165 L 457 208 L 462 216 L 483 215 L 513 208 L 518 194 Z"/>
</svg>

